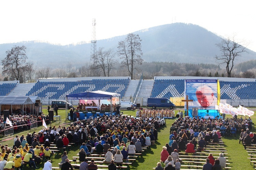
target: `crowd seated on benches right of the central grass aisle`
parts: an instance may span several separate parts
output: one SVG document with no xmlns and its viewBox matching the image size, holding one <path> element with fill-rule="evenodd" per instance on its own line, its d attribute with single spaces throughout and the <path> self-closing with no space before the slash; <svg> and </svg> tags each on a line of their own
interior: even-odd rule
<svg viewBox="0 0 256 170">
<path fill-rule="evenodd" d="M 186 153 L 201 152 L 206 149 L 208 143 L 218 143 L 222 136 L 234 136 L 240 134 L 240 141 L 244 147 L 256 141 L 256 133 L 252 129 L 252 119 L 203 119 L 203 118 L 181 118 L 179 117 L 170 127 L 169 142 L 163 146 L 161 162 L 156 169 L 169 170 L 180 169 L 179 151 Z M 226 158 L 223 153 L 215 159 L 210 153 L 203 165 L 204 170 L 224 169 Z"/>
</svg>

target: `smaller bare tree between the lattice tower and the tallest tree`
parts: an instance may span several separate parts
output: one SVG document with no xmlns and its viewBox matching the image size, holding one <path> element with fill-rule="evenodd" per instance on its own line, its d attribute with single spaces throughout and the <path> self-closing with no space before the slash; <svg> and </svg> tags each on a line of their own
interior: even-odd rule
<svg viewBox="0 0 256 170">
<path fill-rule="evenodd" d="M 114 69 L 114 65 L 116 64 L 114 58 L 115 53 L 112 49 L 104 51 L 103 47 L 99 48 L 93 58 L 95 61 L 93 69 L 100 71 L 104 77 L 109 77 L 111 70 Z"/>
</svg>

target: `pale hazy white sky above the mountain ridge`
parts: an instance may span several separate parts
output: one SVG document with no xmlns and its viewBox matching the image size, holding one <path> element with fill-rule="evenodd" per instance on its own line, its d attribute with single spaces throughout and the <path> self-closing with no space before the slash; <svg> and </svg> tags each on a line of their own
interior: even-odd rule
<svg viewBox="0 0 256 170">
<path fill-rule="evenodd" d="M 89 42 L 96 18 L 97 40 L 184 22 L 224 37 L 236 34 L 237 42 L 256 51 L 255 4 L 253 0 L 2 0 L 0 44 Z"/>
</svg>

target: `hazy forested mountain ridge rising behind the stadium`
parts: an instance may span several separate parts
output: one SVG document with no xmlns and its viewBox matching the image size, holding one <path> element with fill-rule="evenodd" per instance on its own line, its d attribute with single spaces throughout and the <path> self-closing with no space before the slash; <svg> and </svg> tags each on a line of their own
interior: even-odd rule
<svg viewBox="0 0 256 170">
<path fill-rule="evenodd" d="M 134 33 L 139 34 L 142 40 L 142 58 L 146 62 L 175 61 L 176 63 L 216 64 L 214 57 L 220 54 L 215 44 L 221 42 L 221 37 L 198 25 L 174 23 Z M 124 40 L 125 37 L 126 35 L 122 35 L 97 40 L 97 48 L 117 50 L 118 42 Z M 28 60 L 33 61 L 38 67 L 58 68 L 62 65 L 66 66 L 69 62 L 81 66 L 90 60 L 90 43 L 61 46 L 35 41 L 0 44 L 0 60 L 6 57 L 5 51 L 14 45 L 25 45 Z M 238 58 L 236 63 L 255 59 L 256 53 L 249 49 L 247 51 L 248 53 L 243 53 L 243 57 Z"/>
</svg>

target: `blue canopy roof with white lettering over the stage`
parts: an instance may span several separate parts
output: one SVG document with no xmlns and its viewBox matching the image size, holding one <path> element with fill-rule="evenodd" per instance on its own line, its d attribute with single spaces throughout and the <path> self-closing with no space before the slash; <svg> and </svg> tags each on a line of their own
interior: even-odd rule
<svg viewBox="0 0 256 170">
<path fill-rule="evenodd" d="M 112 97 L 120 97 L 120 94 L 110 93 L 104 91 L 93 91 L 93 92 L 83 92 L 66 95 L 67 99 L 111 99 Z"/>
</svg>

